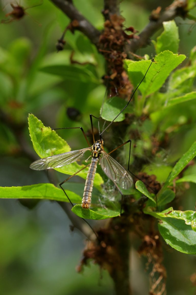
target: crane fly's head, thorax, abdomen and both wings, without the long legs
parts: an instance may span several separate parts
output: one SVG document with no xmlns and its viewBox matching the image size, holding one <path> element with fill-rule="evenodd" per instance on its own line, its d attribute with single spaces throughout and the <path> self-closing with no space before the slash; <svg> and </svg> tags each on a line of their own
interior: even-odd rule
<svg viewBox="0 0 196 295">
<path fill-rule="evenodd" d="M 93 190 L 93 182 L 94 182 L 98 163 L 100 163 L 104 173 L 108 176 L 108 178 L 110 178 L 115 183 L 115 186 L 117 188 L 118 188 L 118 185 L 122 187 L 123 189 L 128 189 L 130 188 L 130 186 L 132 186 L 133 180 L 131 176 L 128 174 L 128 172 L 116 160 L 114 160 L 112 157 L 110 157 L 110 155 L 108 155 L 104 151 L 103 140 L 97 140 L 91 147 L 88 147 L 88 148 L 39 159 L 33 162 L 30 165 L 30 168 L 33 170 L 59 168 L 77 161 L 84 155 L 84 153 L 87 150 L 91 151 L 92 160 L 91 160 L 91 163 L 87 165 L 90 167 L 88 170 L 85 188 L 84 188 L 84 194 L 83 194 L 82 205 L 81 205 L 82 208 L 90 207 L 92 190 Z M 65 181 L 63 181 L 63 183 L 64 182 Z M 119 188 L 118 190 L 120 191 Z"/>
</svg>

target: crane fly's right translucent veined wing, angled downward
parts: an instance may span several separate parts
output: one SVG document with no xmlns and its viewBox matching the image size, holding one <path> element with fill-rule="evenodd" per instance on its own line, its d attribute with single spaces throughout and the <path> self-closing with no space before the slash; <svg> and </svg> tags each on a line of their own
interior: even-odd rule
<svg viewBox="0 0 196 295">
<path fill-rule="evenodd" d="M 100 165 L 108 178 L 119 184 L 119 186 L 123 189 L 128 189 L 132 186 L 133 179 L 129 173 L 104 151 L 102 152 L 102 157 L 100 158 Z"/>
</svg>

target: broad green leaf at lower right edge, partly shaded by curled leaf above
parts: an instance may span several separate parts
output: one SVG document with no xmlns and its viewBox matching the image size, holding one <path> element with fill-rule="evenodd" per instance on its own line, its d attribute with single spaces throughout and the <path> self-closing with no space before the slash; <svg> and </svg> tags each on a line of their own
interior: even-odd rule
<svg viewBox="0 0 196 295">
<path fill-rule="evenodd" d="M 182 253 L 196 255 L 196 232 L 182 220 L 168 218 L 158 224 L 167 244 Z"/>
</svg>

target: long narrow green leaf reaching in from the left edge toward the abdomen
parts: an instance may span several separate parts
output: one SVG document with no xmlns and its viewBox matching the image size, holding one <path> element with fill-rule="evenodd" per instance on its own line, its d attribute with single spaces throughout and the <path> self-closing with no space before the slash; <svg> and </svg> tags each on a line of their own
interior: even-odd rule
<svg viewBox="0 0 196 295">
<path fill-rule="evenodd" d="M 80 203 L 81 197 L 72 191 L 66 191 L 73 203 Z M 0 187 L 1 199 L 48 199 L 69 202 L 62 191 L 51 183 L 40 183 L 29 186 Z"/>
</svg>

